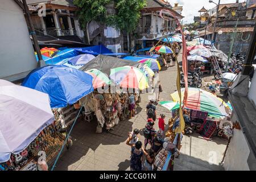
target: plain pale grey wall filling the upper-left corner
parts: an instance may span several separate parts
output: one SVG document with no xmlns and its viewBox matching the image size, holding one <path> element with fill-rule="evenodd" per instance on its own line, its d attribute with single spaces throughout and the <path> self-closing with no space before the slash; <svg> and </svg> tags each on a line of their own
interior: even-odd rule
<svg viewBox="0 0 256 182">
<path fill-rule="evenodd" d="M 1 0 L 0 24 L 0 78 L 18 80 L 37 63 L 23 11 L 14 1 Z"/>
</svg>

